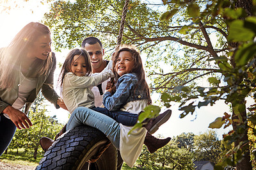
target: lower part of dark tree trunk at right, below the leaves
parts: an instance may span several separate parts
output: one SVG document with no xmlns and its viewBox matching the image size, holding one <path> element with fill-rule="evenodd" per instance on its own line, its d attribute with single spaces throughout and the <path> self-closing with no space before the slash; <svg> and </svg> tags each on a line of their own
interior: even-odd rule
<svg viewBox="0 0 256 170">
<path fill-rule="evenodd" d="M 244 104 L 244 111 L 240 112 L 240 114 L 243 119 L 243 124 L 245 125 L 246 128 L 244 130 L 244 133 L 241 134 L 241 135 L 243 135 L 243 137 L 237 139 L 236 142 L 234 143 L 235 147 L 238 146 L 238 144 L 240 142 L 243 142 L 243 144 L 244 144 L 243 148 L 241 148 L 244 153 L 244 157 L 242 158 L 241 161 L 237 162 L 236 169 L 237 170 L 252 170 L 252 163 L 250 161 L 250 149 L 249 149 L 249 143 L 248 143 L 248 128 L 247 128 L 247 123 L 246 123 L 247 116 L 246 116 L 246 110 L 245 110 L 246 107 L 245 107 L 244 98 L 242 98 L 240 100 L 240 104 Z M 238 119 L 238 116 L 233 111 L 232 120 L 236 120 L 236 119 Z M 239 125 L 239 123 L 237 123 L 236 121 L 234 121 L 232 124 L 233 130 L 235 132 L 237 132 L 237 130 L 238 130 L 237 125 Z"/>
</svg>

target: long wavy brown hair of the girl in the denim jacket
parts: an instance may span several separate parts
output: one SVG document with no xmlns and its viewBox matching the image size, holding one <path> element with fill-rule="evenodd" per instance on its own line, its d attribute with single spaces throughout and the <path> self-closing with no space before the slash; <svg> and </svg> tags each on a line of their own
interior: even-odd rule
<svg viewBox="0 0 256 170">
<path fill-rule="evenodd" d="M 140 52 L 138 52 L 136 47 L 131 46 L 131 45 L 129 45 L 129 46 L 126 45 L 126 46 L 121 47 L 117 52 L 115 52 L 115 55 L 113 57 L 113 72 L 115 73 L 115 79 L 117 80 L 120 77 L 118 75 L 118 73 L 116 73 L 115 65 L 117 63 L 117 59 L 119 57 L 119 54 L 122 51 L 130 52 L 132 54 L 132 58 L 134 59 L 134 66 L 132 68 L 131 73 L 136 73 L 136 75 L 138 77 L 138 84 L 136 84 L 134 92 L 135 92 L 136 88 L 138 88 L 138 86 L 142 87 L 142 89 L 144 88 L 145 91 L 146 91 L 146 96 L 148 98 L 148 104 L 151 104 L 152 100 L 151 100 L 151 97 L 150 97 L 150 89 L 149 89 L 147 81 L 146 81 L 145 71 L 143 69 L 143 64 L 142 64 Z"/>
</svg>

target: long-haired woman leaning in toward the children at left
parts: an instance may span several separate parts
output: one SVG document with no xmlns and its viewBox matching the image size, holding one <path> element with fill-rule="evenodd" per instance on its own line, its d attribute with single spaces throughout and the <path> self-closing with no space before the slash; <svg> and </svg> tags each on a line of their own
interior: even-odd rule
<svg viewBox="0 0 256 170">
<path fill-rule="evenodd" d="M 51 52 L 49 27 L 30 22 L 0 51 L 0 155 L 8 147 L 16 128 L 32 125 L 26 116 L 40 89 L 58 109 L 65 109 L 54 89 L 56 58 Z M 26 104 L 25 112 L 20 110 Z"/>
</svg>

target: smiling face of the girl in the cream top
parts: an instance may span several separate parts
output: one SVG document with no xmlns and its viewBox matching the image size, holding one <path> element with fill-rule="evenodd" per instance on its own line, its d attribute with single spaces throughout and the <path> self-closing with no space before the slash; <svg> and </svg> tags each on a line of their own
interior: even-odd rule
<svg viewBox="0 0 256 170">
<path fill-rule="evenodd" d="M 71 65 L 71 71 L 72 73 L 74 73 L 79 77 L 86 75 L 87 69 L 86 69 L 84 56 L 79 56 L 79 55 L 74 56 L 72 65 Z"/>
</svg>

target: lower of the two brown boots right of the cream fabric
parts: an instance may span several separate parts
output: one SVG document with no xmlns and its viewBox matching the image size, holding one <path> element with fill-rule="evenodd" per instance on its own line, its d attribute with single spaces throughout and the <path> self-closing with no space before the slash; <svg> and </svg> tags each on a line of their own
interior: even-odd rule
<svg viewBox="0 0 256 170">
<path fill-rule="evenodd" d="M 154 153 L 159 148 L 162 148 L 163 146 L 168 144 L 170 142 L 170 140 L 171 140 L 171 137 L 167 137 L 165 139 L 158 139 L 147 132 L 144 144 L 147 146 L 148 151 L 150 153 Z"/>
</svg>

